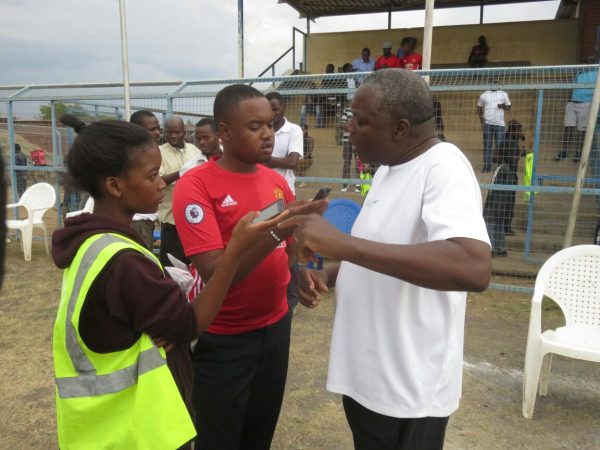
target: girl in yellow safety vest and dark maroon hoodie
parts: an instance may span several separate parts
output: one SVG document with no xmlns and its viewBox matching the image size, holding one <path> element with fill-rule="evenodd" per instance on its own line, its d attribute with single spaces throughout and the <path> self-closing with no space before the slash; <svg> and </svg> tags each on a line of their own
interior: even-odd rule
<svg viewBox="0 0 600 450">
<path fill-rule="evenodd" d="M 59 445 L 180 448 L 195 436 L 189 343 L 214 319 L 246 253 L 289 211 L 259 223 L 258 213 L 244 216 L 188 303 L 129 226 L 164 197 L 158 145 L 127 122 L 61 120 L 78 133 L 68 179 L 90 193 L 94 210 L 53 235 L 52 257 L 64 269 L 53 338 Z M 190 221 L 202 220 L 202 208 L 188 209 Z"/>
</svg>

